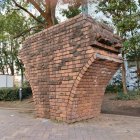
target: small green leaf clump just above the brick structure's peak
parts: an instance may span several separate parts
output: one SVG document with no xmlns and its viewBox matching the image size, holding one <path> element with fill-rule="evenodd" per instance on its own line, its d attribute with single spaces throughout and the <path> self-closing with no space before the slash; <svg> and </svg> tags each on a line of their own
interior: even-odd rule
<svg viewBox="0 0 140 140">
<path fill-rule="evenodd" d="M 81 13 L 81 10 L 79 8 L 75 8 L 73 6 L 69 6 L 68 9 L 62 10 L 62 15 L 66 16 L 67 18 L 72 18 Z"/>
</svg>

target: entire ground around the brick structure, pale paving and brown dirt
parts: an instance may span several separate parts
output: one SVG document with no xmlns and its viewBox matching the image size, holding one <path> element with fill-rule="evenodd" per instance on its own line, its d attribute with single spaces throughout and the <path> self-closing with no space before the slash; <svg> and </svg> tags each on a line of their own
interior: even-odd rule
<svg viewBox="0 0 140 140">
<path fill-rule="evenodd" d="M 35 118 L 32 98 L 0 102 L 0 140 L 140 140 L 140 117 L 135 117 L 140 116 L 140 101 L 110 100 L 113 97 L 104 97 L 102 112 L 131 116 L 102 113 L 68 125 Z"/>
</svg>

